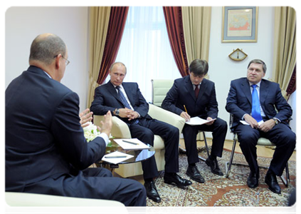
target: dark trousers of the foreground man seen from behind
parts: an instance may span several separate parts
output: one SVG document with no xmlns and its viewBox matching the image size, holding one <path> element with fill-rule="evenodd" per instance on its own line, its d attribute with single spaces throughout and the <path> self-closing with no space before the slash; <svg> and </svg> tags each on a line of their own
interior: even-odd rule
<svg viewBox="0 0 301 214">
<path fill-rule="evenodd" d="M 112 177 L 106 168 L 87 168 L 76 175 L 60 175 L 26 185 L 26 193 L 63 195 L 76 198 L 117 200 L 129 213 L 145 213 L 146 192 L 136 180 Z"/>
</svg>

